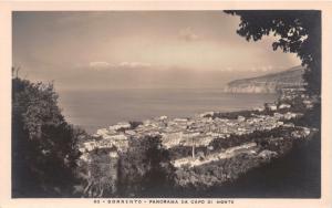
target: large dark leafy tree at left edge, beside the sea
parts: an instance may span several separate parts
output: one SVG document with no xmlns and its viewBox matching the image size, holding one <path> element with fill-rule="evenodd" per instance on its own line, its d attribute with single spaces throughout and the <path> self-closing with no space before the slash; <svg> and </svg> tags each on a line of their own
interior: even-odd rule
<svg viewBox="0 0 332 208">
<path fill-rule="evenodd" d="M 71 197 L 79 137 L 61 114 L 52 84 L 12 79 L 13 197 Z"/>
</svg>

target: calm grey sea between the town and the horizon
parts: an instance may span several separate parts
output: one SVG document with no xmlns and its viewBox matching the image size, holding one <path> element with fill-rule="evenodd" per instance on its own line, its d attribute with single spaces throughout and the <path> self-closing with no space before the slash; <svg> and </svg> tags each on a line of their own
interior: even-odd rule
<svg viewBox="0 0 332 208">
<path fill-rule="evenodd" d="M 118 122 L 166 115 L 193 117 L 204 112 L 234 112 L 274 102 L 277 94 L 231 94 L 222 89 L 112 89 L 60 91 L 66 121 L 95 133 Z"/>
</svg>

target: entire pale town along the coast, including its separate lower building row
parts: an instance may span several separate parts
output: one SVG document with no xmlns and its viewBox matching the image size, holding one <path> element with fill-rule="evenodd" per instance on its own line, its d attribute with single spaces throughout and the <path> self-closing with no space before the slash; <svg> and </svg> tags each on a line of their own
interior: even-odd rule
<svg viewBox="0 0 332 208">
<path fill-rule="evenodd" d="M 283 93 L 283 97 L 293 98 L 293 91 Z M 284 98 L 284 100 L 286 100 Z M 282 100 L 281 100 L 282 101 Z M 165 148 L 173 147 L 191 147 L 191 158 L 184 157 L 174 160 L 174 165 L 179 167 L 184 164 L 205 164 L 214 160 L 214 155 L 206 157 L 204 162 L 198 163 L 195 153 L 195 147 L 207 147 L 212 149 L 210 143 L 214 139 L 225 139 L 231 135 L 249 135 L 253 132 L 271 131 L 278 127 L 294 127 L 291 122 L 293 118 L 302 116 L 302 113 L 291 111 L 291 105 L 286 103 L 267 103 L 263 107 L 257 107 L 250 111 L 250 115 L 238 115 L 236 118 L 227 118 L 220 116 L 220 112 L 206 112 L 197 114 L 193 117 L 185 118 L 168 118 L 159 116 L 143 122 L 136 122 L 135 125 L 131 122 L 122 122 L 112 125 L 108 128 L 101 128 L 94 135 L 94 139 L 87 141 L 80 146 L 82 159 L 86 159 L 86 154 L 94 149 L 113 148 L 110 153 L 111 157 L 118 157 L 118 153 L 125 153 L 128 148 L 128 139 L 139 139 L 144 136 L 159 136 Z M 307 107 L 312 107 L 311 103 Z M 269 112 L 269 113 L 267 113 Z M 311 133 L 310 128 L 302 127 L 302 131 L 294 131 L 294 137 L 305 137 Z M 250 149 L 255 144 L 242 144 L 236 147 L 238 149 Z M 250 148 L 249 148 L 250 147 Z M 221 157 L 231 157 L 235 149 L 228 149 Z M 220 153 L 216 153 L 220 158 Z M 214 157 L 214 158 L 212 158 Z"/>
</svg>

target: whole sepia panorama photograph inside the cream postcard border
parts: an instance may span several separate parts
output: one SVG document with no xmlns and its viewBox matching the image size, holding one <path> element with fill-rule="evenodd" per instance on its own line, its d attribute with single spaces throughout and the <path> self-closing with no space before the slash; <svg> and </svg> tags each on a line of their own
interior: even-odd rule
<svg viewBox="0 0 332 208">
<path fill-rule="evenodd" d="M 13 11 L 12 198 L 321 198 L 321 11 Z"/>
</svg>

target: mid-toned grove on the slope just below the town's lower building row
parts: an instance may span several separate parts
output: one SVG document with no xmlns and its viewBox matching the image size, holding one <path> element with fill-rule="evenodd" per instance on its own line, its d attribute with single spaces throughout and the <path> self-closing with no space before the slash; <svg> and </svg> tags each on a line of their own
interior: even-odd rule
<svg viewBox="0 0 332 208">
<path fill-rule="evenodd" d="M 239 152 L 238 155 L 211 162 L 195 167 L 181 167 L 176 170 L 176 185 L 179 189 L 189 193 L 200 193 L 211 187 L 224 186 L 236 180 L 249 169 L 259 167 L 273 159 L 276 156 L 283 157 L 299 143 L 291 133 L 294 128 L 276 128 L 269 132 L 255 132 L 249 135 L 231 136 L 229 139 L 217 138 L 210 145 L 215 150 L 237 146 L 248 142 L 256 142 L 250 152 Z M 222 148 L 221 148 L 222 147 Z"/>
</svg>

